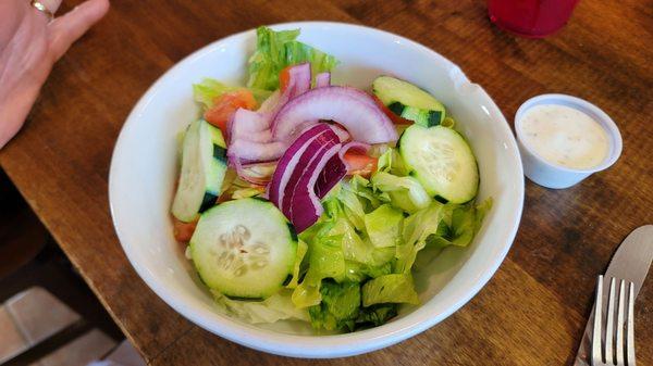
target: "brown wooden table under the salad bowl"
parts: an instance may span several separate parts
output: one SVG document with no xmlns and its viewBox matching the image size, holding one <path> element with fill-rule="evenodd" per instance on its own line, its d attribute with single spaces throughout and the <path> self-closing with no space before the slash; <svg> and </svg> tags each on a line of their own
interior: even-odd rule
<svg viewBox="0 0 653 366">
<path fill-rule="evenodd" d="M 67 10 L 77 1 L 64 1 Z M 653 223 L 653 3 L 582 0 L 545 40 L 515 38 L 480 0 L 115 0 L 54 67 L 0 164 L 152 365 L 569 365 L 595 276 L 636 227 Z M 521 227 L 490 283 L 459 312 L 386 350 L 301 361 L 212 336 L 159 300 L 118 242 L 107 197 L 113 143 L 130 110 L 194 50 L 260 24 L 333 20 L 412 38 L 460 65 L 508 121 L 526 99 L 564 92 L 603 108 L 624 137 L 611 169 L 566 190 L 527 181 Z M 392 56 L 392 55 L 387 55 Z M 637 304 L 638 361 L 653 364 L 653 280 Z"/>
</svg>

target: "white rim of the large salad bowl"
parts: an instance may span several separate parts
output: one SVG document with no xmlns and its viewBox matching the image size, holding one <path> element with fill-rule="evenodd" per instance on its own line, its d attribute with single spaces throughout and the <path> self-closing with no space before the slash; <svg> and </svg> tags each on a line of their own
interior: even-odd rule
<svg viewBox="0 0 653 366">
<path fill-rule="evenodd" d="M 207 319 L 204 317 L 204 314 L 200 314 L 200 311 L 190 308 L 188 304 L 180 300 L 181 298 L 176 296 L 172 291 L 168 290 L 164 286 L 159 283 L 157 278 L 152 274 L 150 274 L 147 268 L 140 265 L 137 261 L 135 261 L 136 254 L 131 252 L 130 245 L 126 244 L 125 240 L 123 240 L 125 236 L 122 232 L 121 228 L 119 228 L 118 226 L 118 213 L 113 200 L 114 194 L 112 194 L 112 191 L 114 191 L 118 185 L 115 180 L 115 171 L 120 168 L 116 167 L 116 156 L 120 154 L 120 151 L 122 151 L 123 143 L 125 143 L 124 136 L 132 128 L 138 115 L 141 114 L 143 111 L 150 103 L 151 99 L 157 93 L 160 84 L 163 83 L 163 79 L 167 75 L 173 73 L 177 68 L 181 68 L 186 63 L 192 63 L 197 58 L 205 56 L 205 54 L 211 49 L 214 49 L 218 43 L 229 43 L 230 41 L 234 41 L 236 39 L 255 34 L 255 28 L 223 37 L 194 51 L 189 55 L 175 63 L 171 68 L 165 71 L 165 73 L 163 73 L 140 97 L 140 99 L 133 108 L 132 112 L 130 113 L 130 115 L 125 119 L 124 125 L 121 128 L 111 156 L 108 185 L 109 204 L 112 224 L 115 229 L 119 241 L 123 248 L 123 251 L 125 252 L 125 255 L 127 256 L 127 260 L 130 261 L 138 276 L 161 300 L 163 300 L 169 306 L 171 306 L 185 318 L 189 319 L 195 325 L 230 341 L 272 354 L 291 357 L 310 358 L 343 357 L 375 351 L 404 341 L 410 337 L 414 337 L 417 333 L 420 333 L 431 328 L 432 326 L 444 320 L 453 313 L 458 311 L 488 283 L 488 281 L 496 273 L 500 265 L 503 263 L 505 256 L 507 255 L 519 228 L 519 223 L 521 219 L 523 209 L 525 194 L 523 171 L 517 142 L 515 140 L 515 137 L 513 136 L 513 132 L 509 128 L 505 116 L 503 115 L 498 106 L 494 103 L 492 98 L 482 89 L 482 87 L 480 87 L 477 84 L 471 84 L 456 64 L 421 43 L 418 43 L 403 36 L 373 27 L 342 22 L 288 22 L 269 25 L 269 27 L 271 28 L 304 28 L 307 26 L 322 27 L 325 29 L 332 27 L 345 27 L 352 29 L 353 31 L 367 33 L 371 36 L 383 36 L 387 37 L 389 39 L 392 39 L 393 41 L 402 42 L 406 46 L 409 46 L 412 49 L 415 49 L 416 52 L 422 52 L 431 59 L 440 59 L 441 62 L 447 65 L 449 72 L 453 72 L 453 75 L 455 75 L 458 78 L 458 80 L 463 80 L 465 84 L 469 84 L 476 87 L 476 92 L 481 93 L 481 96 L 488 103 L 486 106 L 492 110 L 493 116 L 498 118 L 500 122 L 503 122 L 501 123 L 500 128 L 503 129 L 506 136 L 509 136 L 509 139 L 507 139 L 506 142 L 507 144 L 509 144 L 510 150 L 514 152 L 517 162 L 519 162 L 518 166 L 516 167 L 516 175 L 519 177 L 519 185 L 517 186 L 518 189 L 515 207 L 516 210 L 513 213 L 514 216 L 510 217 L 509 220 L 510 223 L 513 223 L 513 227 L 509 229 L 506 237 L 506 243 L 501 249 L 498 255 L 496 255 L 492 261 L 489 261 L 485 268 L 481 270 L 481 276 L 477 278 L 475 285 L 469 289 L 465 290 L 463 292 L 463 295 L 456 302 L 451 304 L 444 312 L 438 314 L 436 316 L 430 316 L 428 312 L 424 313 L 426 310 L 422 305 L 401 319 L 396 319 L 394 321 L 387 323 L 379 327 L 352 333 L 329 336 L 288 335 L 239 324 L 236 320 L 230 319 L 227 316 L 215 316 L 211 319 Z M 485 113 L 490 115 L 490 111 L 485 110 Z M 507 149 L 508 147 L 505 148 Z"/>
</svg>

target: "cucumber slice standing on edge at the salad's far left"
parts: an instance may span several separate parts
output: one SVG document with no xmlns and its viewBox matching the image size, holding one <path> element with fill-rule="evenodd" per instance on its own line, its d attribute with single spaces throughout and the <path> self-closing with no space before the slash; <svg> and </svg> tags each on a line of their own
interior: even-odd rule
<svg viewBox="0 0 653 366">
<path fill-rule="evenodd" d="M 226 144 L 220 129 L 204 119 L 188 126 L 182 147 L 182 172 L 172 214 L 189 223 L 215 204 L 226 172 Z"/>
</svg>

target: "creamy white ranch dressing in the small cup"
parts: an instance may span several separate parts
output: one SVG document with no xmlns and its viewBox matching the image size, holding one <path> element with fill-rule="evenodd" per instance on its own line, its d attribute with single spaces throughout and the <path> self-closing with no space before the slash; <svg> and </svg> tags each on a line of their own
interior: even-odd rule
<svg viewBox="0 0 653 366">
<path fill-rule="evenodd" d="M 521 117 L 522 142 L 550 163 L 574 169 L 601 164 L 609 150 L 603 127 L 588 114 L 559 104 L 540 104 Z"/>
</svg>

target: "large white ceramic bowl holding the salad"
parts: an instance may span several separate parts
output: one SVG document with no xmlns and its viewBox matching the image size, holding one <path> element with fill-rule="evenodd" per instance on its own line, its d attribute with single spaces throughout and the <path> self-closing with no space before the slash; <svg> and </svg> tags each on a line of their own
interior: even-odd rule
<svg viewBox="0 0 653 366">
<path fill-rule="evenodd" d="M 255 30 L 218 40 L 168 71 L 140 99 L 120 134 L 109 177 L 111 214 L 130 262 L 170 306 L 198 326 L 243 345 L 295 357 L 338 357 L 378 350 L 442 321 L 467 303 L 505 257 L 519 225 L 523 175 L 506 119 L 492 99 L 452 62 L 406 38 L 340 23 L 289 23 L 300 40 L 334 54 L 336 84 L 368 88 L 393 74 L 432 92 L 458 122 L 478 157 L 479 199 L 494 206 L 473 243 L 448 248 L 415 273 L 421 305 L 387 324 L 346 335 L 319 336 L 310 326 L 255 326 L 221 314 L 173 238 L 169 210 L 176 179 L 175 136 L 198 115 L 192 84 L 210 76 L 243 84 Z M 420 253 L 421 254 L 421 253 Z M 422 255 L 422 258 L 427 255 Z"/>
</svg>

